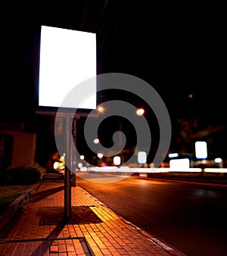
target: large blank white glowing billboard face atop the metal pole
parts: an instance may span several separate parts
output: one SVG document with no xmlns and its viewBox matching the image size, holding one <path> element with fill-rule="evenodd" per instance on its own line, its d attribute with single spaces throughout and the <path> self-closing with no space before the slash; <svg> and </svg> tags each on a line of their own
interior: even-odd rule
<svg viewBox="0 0 227 256">
<path fill-rule="evenodd" d="M 65 96 L 79 83 L 96 76 L 96 34 L 57 27 L 41 27 L 39 60 L 39 106 L 96 108 L 96 83 L 83 88 L 82 104 Z M 93 92 L 93 93 L 92 93 Z"/>
</svg>

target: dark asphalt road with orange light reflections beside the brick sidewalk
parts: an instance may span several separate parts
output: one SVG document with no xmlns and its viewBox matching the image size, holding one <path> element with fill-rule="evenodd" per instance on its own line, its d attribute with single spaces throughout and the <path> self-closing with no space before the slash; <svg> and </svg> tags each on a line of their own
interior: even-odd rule
<svg viewBox="0 0 227 256">
<path fill-rule="evenodd" d="M 86 173 L 76 176 L 76 185 L 166 245 L 188 256 L 227 255 L 226 187 L 135 177 L 113 182 L 110 175 L 100 183 L 99 174 L 86 178 Z"/>
</svg>

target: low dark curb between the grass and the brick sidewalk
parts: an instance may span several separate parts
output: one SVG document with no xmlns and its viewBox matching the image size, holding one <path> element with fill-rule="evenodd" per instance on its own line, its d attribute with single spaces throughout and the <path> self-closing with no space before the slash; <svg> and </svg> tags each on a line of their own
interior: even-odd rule
<svg viewBox="0 0 227 256">
<path fill-rule="evenodd" d="M 5 213 L 0 215 L 0 229 L 2 229 L 2 227 L 4 227 L 9 220 L 11 220 L 11 217 L 13 217 L 19 209 L 23 208 L 30 201 L 32 195 L 36 192 L 37 189 L 39 189 L 39 186 L 40 183 L 36 183 L 8 205 Z"/>
</svg>

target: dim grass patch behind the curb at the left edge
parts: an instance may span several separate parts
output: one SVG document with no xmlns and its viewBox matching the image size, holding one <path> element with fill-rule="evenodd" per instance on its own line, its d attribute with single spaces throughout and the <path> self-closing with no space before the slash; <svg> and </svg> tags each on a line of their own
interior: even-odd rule
<svg viewBox="0 0 227 256">
<path fill-rule="evenodd" d="M 0 214 L 3 214 L 9 204 L 32 186 L 33 185 L 0 186 Z"/>
</svg>

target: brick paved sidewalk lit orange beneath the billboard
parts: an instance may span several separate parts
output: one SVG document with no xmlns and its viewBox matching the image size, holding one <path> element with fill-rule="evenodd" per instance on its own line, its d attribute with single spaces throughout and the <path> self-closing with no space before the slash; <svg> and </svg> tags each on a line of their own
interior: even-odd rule
<svg viewBox="0 0 227 256">
<path fill-rule="evenodd" d="M 72 217 L 64 222 L 64 183 L 41 183 L 5 226 L 0 255 L 179 255 L 79 186 L 71 195 Z"/>
</svg>

